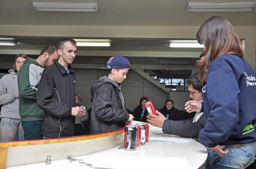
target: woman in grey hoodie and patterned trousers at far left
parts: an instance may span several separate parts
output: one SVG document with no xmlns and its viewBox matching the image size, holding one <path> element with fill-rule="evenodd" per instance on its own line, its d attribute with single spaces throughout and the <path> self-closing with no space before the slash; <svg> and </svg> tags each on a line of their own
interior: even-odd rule
<svg viewBox="0 0 256 169">
<path fill-rule="evenodd" d="M 19 90 L 17 76 L 24 61 L 28 58 L 25 54 L 17 54 L 8 72 L 0 79 L 0 141 L 24 140 L 24 131 L 21 127 L 19 115 Z"/>
</svg>

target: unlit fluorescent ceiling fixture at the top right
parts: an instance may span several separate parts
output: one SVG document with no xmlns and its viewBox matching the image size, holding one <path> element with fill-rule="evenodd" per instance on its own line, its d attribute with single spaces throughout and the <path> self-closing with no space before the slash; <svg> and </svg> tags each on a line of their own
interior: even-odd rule
<svg viewBox="0 0 256 169">
<path fill-rule="evenodd" d="M 255 11 L 256 2 L 188 3 L 188 12 Z"/>
</svg>

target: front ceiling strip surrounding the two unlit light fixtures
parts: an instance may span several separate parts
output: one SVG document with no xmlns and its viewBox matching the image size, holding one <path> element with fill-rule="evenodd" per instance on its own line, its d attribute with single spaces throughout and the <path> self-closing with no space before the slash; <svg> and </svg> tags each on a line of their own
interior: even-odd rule
<svg viewBox="0 0 256 169">
<path fill-rule="evenodd" d="M 253 0 L 1 0 L 1 25 L 200 26 L 221 15 L 233 26 L 256 26 L 254 12 L 188 12 L 188 2 Z M 97 3 L 97 12 L 35 11 L 32 2 Z"/>
</svg>

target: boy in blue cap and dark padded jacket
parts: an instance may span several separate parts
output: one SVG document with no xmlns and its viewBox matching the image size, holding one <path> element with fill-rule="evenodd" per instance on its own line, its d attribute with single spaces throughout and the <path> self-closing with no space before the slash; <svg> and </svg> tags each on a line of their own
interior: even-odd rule
<svg viewBox="0 0 256 169">
<path fill-rule="evenodd" d="M 114 56 L 108 60 L 108 76 L 91 82 L 92 112 L 91 133 L 101 133 L 121 129 L 125 121 L 131 122 L 133 116 L 126 111 L 124 95 L 120 83 L 126 79 L 129 60 Z"/>
</svg>

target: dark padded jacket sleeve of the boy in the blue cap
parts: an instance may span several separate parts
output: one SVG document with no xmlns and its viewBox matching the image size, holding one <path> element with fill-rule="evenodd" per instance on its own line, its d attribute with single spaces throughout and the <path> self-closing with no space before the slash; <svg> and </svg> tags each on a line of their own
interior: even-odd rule
<svg viewBox="0 0 256 169">
<path fill-rule="evenodd" d="M 112 106 L 112 92 L 109 88 L 101 88 L 97 98 L 94 101 L 95 114 L 97 118 L 108 122 L 120 122 L 129 119 L 129 114 L 126 110 L 116 109 Z"/>
</svg>

